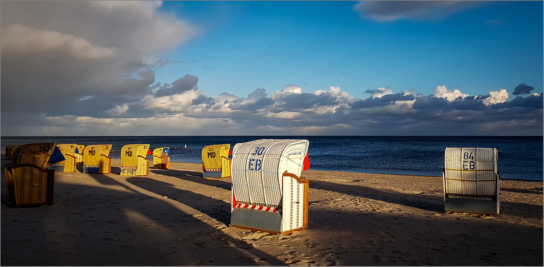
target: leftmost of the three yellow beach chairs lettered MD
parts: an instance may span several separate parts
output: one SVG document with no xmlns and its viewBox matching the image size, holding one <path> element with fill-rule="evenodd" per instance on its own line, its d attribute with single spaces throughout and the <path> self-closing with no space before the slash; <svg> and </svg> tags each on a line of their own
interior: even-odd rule
<svg viewBox="0 0 544 267">
<path fill-rule="evenodd" d="M 111 173 L 112 158 L 109 151 L 112 145 L 89 145 L 84 148 L 83 173 Z"/>
</svg>

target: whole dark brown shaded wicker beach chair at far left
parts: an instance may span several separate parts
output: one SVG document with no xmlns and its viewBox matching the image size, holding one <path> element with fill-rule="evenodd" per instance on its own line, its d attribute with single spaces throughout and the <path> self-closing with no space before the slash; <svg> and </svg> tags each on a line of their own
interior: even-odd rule
<svg viewBox="0 0 544 267">
<path fill-rule="evenodd" d="M 57 144 L 38 143 L 20 145 L 11 153 L 11 164 L 4 166 L 9 207 L 32 207 L 53 204 L 54 170 L 47 169 L 53 152 L 64 160 L 55 148 Z M 53 162 L 55 163 L 55 162 Z M 15 195 L 15 203 L 11 197 Z"/>
</svg>

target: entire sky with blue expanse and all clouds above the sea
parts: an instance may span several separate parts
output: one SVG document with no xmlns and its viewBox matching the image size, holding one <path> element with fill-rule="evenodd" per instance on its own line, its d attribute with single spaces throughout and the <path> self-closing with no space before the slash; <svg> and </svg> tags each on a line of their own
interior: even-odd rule
<svg viewBox="0 0 544 267">
<path fill-rule="evenodd" d="M 0 134 L 542 135 L 542 8 L 2 1 Z"/>
</svg>

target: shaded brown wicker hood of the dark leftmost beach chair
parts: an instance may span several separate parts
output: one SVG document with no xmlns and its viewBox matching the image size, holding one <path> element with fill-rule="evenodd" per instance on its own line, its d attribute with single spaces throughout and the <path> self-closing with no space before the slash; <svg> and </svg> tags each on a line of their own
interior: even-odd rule
<svg viewBox="0 0 544 267">
<path fill-rule="evenodd" d="M 45 169 L 56 145 L 54 142 L 20 145 L 11 151 L 11 166 L 33 164 Z"/>
</svg>

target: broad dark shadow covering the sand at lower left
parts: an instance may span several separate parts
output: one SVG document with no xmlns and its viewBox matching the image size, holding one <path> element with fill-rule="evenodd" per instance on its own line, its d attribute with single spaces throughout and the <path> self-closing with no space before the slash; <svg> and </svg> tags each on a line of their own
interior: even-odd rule
<svg viewBox="0 0 544 267">
<path fill-rule="evenodd" d="M 61 175 L 64 173 L 55 173 L 55 179 Z M 91 177 L 111 186 L 60 183 L 57 179 L 52 206 L 2 207 L 2 264 L 255 265 L 248 257 L 250 252 L 265 259 L 267 265 L 285 265 L 245 241 L 233 239 L 181 212 L 164 199 L 118 187 L 122 183 L 108 175 Z M 144 177 L 129 179 L 134 185 L 149 189 L 143 183 Z M 146 184 L 149 182 L 153 181 Z M 5 183 L 2 185 L 5 188 Z M 165 194 L 175 190 L 162 182 L 153 185 L 166 189 L 162 191 Z M 176 191 L 189 198 L 202 197 Z M 5 190 L 2 197 L 7 197 Z M 224 205 L 207 198 L 188 203 L 202 208 Z M 21 232 L 23 228 L 31 231 Z M 40 256 L 28 257 L 29 253 Z"/>
</svg>

